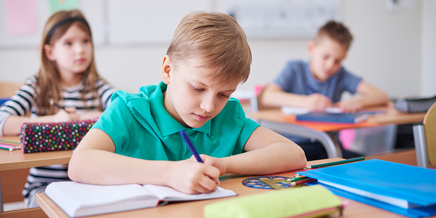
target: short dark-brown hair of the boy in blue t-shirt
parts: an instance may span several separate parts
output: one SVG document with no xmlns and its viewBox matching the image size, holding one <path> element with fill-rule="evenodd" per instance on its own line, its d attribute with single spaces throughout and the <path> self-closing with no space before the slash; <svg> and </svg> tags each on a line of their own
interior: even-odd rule
<svg viewBox="0 0 436 218">
<path fill-rule="evenodd" d="M 348 47 L 351 45 L 351 41 L 353 41 L 353 36 L 348 28 L 346 28 L 342 23 L 337 23 L 334 20 L 328 21 L 318 30 L 315 40 L 325 35 L 343 45 L 346 50 L 348 50 Z"/>
</svg>

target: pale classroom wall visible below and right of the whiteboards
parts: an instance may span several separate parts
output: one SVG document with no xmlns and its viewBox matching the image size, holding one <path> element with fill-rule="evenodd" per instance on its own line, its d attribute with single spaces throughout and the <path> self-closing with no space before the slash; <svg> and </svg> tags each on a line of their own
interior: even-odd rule
<svg viewBox="0 0 436 218">
<path fill-rule="evenodd" d="M 390 13 L 386 1 L 341 1 L 343 22 L 355 37 L 344 66 L 392 98 L 436 93 L 431 82 L 436 81 L 435 0 L 415 3 L 412 9 Z M 241 87 L 273 80 L 289 59 L 307 60 L 307 42 L 249 40 L 251 74 Z M 142 85 L 160 81 L 161 59 L 168 44 L 97 46 L 97 69 L 117 88 L 137 92 Z M 22 83 L 38 68 L 36 47 L 0 47 L 0 81 Z"/>
</svg>

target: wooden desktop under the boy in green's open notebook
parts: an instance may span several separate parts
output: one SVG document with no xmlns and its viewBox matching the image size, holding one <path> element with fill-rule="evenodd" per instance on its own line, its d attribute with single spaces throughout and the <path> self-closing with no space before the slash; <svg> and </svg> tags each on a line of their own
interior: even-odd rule
<svg viewBox="0 0 436 218">
<path fill-rule="evenodd" d="M 337 160 L 342 160 L 342 158 L 331 158 L 325 160 L 309 161 L 308 165 L 326 163 L 326 162 L 337 161 Z M 277 173 L 276 175 L 293 176 L 295 175 L 295 172 Z M 195 201 L 195 202 L 170 203 L 168 205 L 159 206 L 159 207 L 131 210 L 125 212 L 118 212 L 118 213 L 110 213 L 110 214 L 102 214 L 102 215 L 90 216 L 88 218 L 119 218 L 119 217 L 202 218 L 203 207 L 206 204 L 223 201 L 223 200 L 229 200 L 231 198 L 238 198 L 246 195 L 263 193 L 266 191 L 274 191 L 268 189 L 245 187 L 244 185 L 242 185 L 242 181 L 249 177 L 251 176 L 240 176 L 234 174 L 224 175 L 220 177 L 220 181 L 221 181 L 220 186 L 223 188 L 234 190 L 236 193 L 238 193 L 238 196 L 221 198 L 221 199 L 202 200 L 202 201 Z M 379 209 L 377 207 L 373 207 L 364 203 L 345 199 L 343 197 L 339 197 L 339 198 L 349 202 L 348 206 L 346 206 L 344 209 L 342 218 L 367 218 L 367 217 L 404 218 L 401 215 L 397 215 L 389 211 Z M 50 199 L 48 199 L 47 196 L 44 195 L 43 193 L 37 194 L 36 201 L 38 202 L 38 204 L 41 206 L 41 208 L 47 214 L 48 217 L 68 218 L 68 216 L 55 203 L 53 203 Z M 330 215 L 329 217 L 339 218 L 340 216 L 337 213 L 337 214 Z"/>
</svg>

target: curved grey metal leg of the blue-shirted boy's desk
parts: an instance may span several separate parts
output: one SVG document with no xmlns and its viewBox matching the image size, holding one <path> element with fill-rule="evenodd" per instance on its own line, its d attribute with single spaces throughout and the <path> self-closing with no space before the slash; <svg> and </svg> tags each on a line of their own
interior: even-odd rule
<svg viewBox="0 0 436 218">
<path fill-rule="evenodd" d="M 278 133 L 295 135 L 305 138 L 314 138 L 321 142 L 327 151 L 328 158 L 342 157 L 341 145 L 338 143 L 332 133 L 320 132 L 301 125 L 278 123 L 272 121 L 259 120 L 258 122 L 265 128 L 271 129 Z"/>
</svg>

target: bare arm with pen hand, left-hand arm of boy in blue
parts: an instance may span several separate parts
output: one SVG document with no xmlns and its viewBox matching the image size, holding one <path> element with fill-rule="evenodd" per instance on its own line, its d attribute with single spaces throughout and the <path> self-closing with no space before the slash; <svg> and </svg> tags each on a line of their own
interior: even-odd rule
<svg viewBox="0 0 436 218">
<path fill-rule="evenodd" d="M 326 109 L 332 104 L 331 100 L 325 95 L 319 93 L 311 95 L 287 93 L 281 90 L 277 84 L 267 85 L 261 94 L 260 101 L 266 107 L 293 106 L 310 110 Z"/>
</svg>

